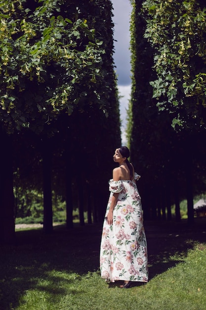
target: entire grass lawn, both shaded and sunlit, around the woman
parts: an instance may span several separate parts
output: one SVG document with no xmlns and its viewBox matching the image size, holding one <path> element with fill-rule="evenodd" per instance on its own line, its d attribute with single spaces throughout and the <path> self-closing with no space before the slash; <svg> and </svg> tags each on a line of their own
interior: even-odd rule
<svg viewBox="0 0 206 310">
<path fill-rule="evenodd" d="M 101 225 L 17 230 L 0 253 L 0 310 L 206 310 L 206 219 L 145 222 L 149 282 L 100 278 Z"/>
</svg>

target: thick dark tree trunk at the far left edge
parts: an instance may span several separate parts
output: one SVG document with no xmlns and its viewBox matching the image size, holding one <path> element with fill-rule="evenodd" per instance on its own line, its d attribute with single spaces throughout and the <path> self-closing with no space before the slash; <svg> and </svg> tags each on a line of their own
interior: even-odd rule
<svg viewBox="0 0 206 310">
<path fill-rule="evenodd" d="M 0 133 L 0 243 L 15 243 L 13 163 L 11 137 Z"/>
</svg>

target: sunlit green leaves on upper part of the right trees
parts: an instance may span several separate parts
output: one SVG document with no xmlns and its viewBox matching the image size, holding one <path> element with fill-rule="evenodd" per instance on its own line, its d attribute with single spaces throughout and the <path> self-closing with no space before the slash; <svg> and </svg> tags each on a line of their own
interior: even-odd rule
<svg viewBox="0 0 206 310">
<path fill-rule="evenodd" d="M 155 50 L 151 81 L 172 127 L 206 128 L 206 7 L 199 0 L 146 0 L 144 37 Z"/>
</svg>

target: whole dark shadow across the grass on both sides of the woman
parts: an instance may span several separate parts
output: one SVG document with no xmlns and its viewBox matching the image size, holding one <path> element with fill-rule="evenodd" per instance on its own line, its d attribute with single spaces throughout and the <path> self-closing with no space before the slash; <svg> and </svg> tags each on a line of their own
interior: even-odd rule
<svg viewBox="0 0 206 310">
<path fill-rule="evenodd" d="M 55 226 L 51 235 L 41 229 L 17 231 L 17 245 L 1 249 L 0 310 L 16 309 L 28 290 L 45 291 L 55 300 L 68 294 L 64 284 L 98 270 L 101 230 L 102 225 L 86 225 L 71 230 Z M 195 243 L 206 242 L 206 219 L 196 219 L 193 227 L 185 221 L 145 222 L 145 231 L 151 280 L 183 261 Z M 61 276 L 65 271 L 68 278 Z M 71 273 L 77 276 L 70 278 Z"/>
</svg>

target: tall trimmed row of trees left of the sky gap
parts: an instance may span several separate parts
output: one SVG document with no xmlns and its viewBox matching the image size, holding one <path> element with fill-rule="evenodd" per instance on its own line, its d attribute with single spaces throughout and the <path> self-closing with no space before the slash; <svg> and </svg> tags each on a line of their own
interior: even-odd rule
<svg viewBox="0 0 206 310">
<path fill-rule="evenodd" d="M 52 191 L 68 228 L 74 206 L 82 225 L 86 209 L 102 216 L 121 143 L 111 12 L 109 0 L 0 1 L 1 242 L 15 240 L 14 186 L 43 192 L 46 233 Z"/>
</svg>

